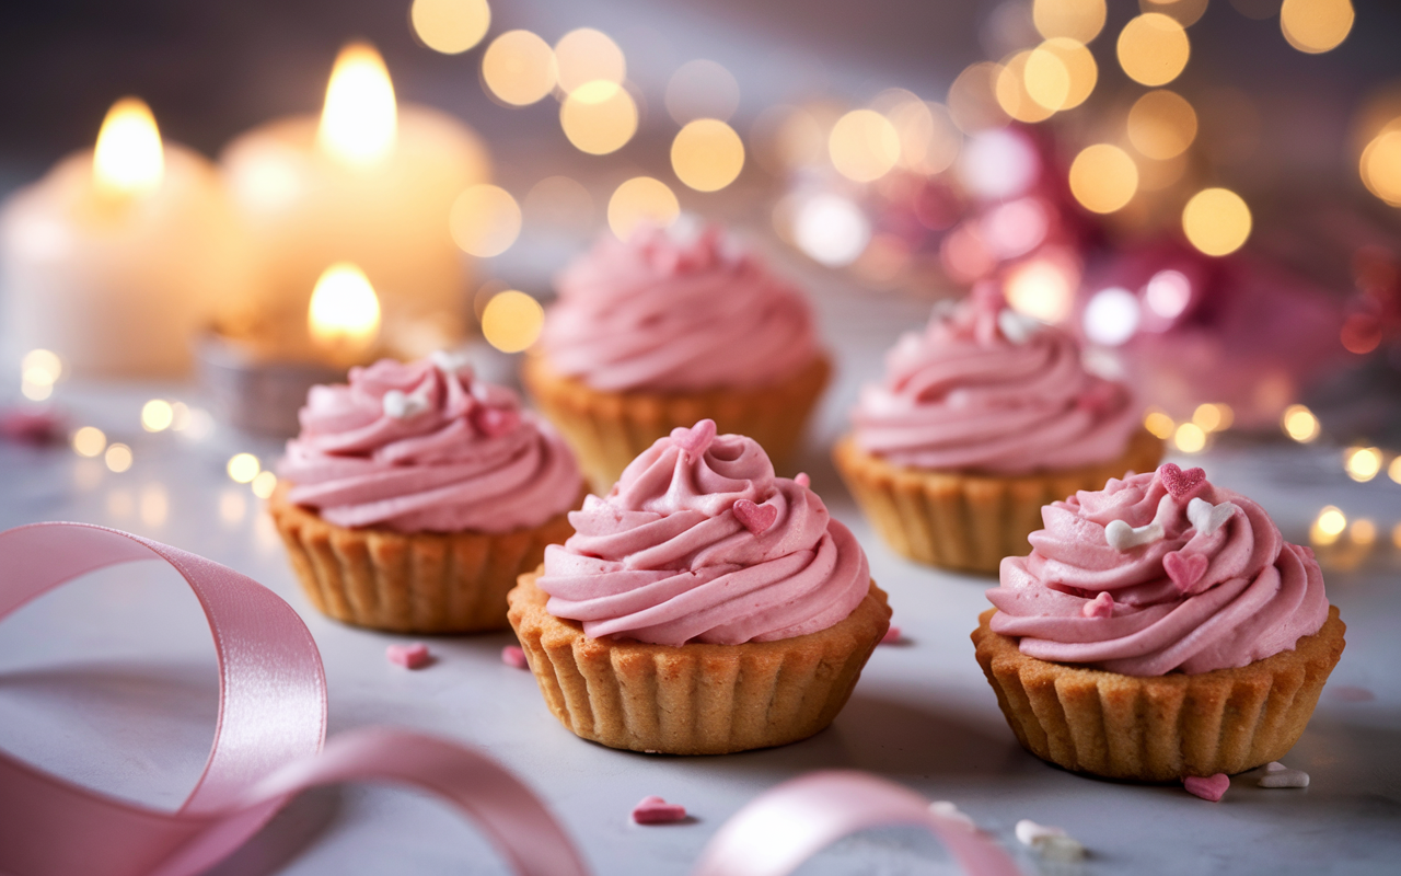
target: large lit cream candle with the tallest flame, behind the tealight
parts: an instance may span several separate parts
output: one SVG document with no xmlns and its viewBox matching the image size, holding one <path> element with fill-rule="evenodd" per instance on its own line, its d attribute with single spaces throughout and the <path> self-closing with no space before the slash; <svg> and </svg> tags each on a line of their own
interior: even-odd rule
<svg viewBox="0 0 1401 876">
<path fill-rule="evenodd" d="M 223 171 L 258 272 L 256 294 L 221 314 L 231 334 L 305 338 L 318 276 L 347 261 L 378 292 L 388 335 L 464 313 L 467 265 L 448 216 L 462 189 L 486 178 L 486 150 L 446 114 L 396 107 L 371 46 L 340 52 L 319 119 L 242 135 L 224 150 Z"/>
</svg>

